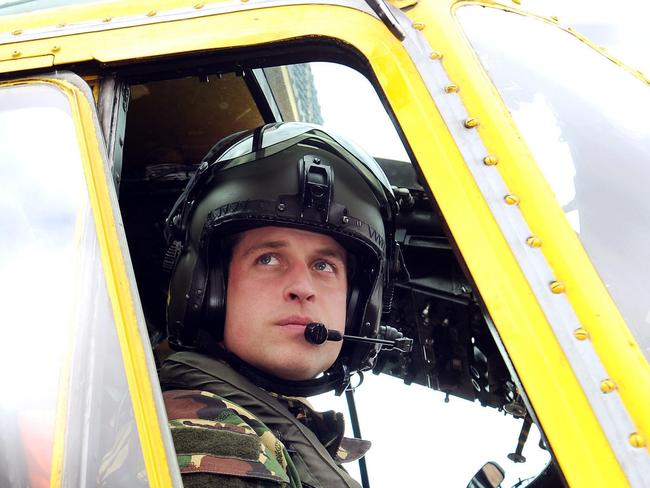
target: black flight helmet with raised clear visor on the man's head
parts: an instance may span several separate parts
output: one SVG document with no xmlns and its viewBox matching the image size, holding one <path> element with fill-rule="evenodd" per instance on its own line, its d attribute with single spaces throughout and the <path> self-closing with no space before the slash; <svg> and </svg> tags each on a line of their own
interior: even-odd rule
<svg viewBox="0 0 650 488">
<path fill-rule="evenodd" d="M 397 210 L 377 162 L 322 127 L 267 124 L 219 141 L 166 221 L 165 237 L 175 255 L 167 304 L 171 346 L 216 354 L 231 236 L 267 225 L 326 234 L 348 251 L 346 333 L 376 338 L 383 291 L 402 261 L 395 242 Z M 341 391 L 351 373 L 372 367 L 377 353 L 376 345 L 344 343 L 334 366 L 306 381 L 239 366 L 278 393 L 314 394 Z"/>
</svg>

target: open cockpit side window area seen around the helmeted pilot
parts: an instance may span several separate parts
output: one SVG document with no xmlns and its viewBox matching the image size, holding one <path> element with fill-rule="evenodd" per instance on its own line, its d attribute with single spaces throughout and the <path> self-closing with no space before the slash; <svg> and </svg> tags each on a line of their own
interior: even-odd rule
<svg viewBox="0 0 650 488">
<path fill-rule="evenodd" d="M 120 204 L 159 360 L 169 352 L 163 341 L 169 276 L 161 268 L 162 222 L 202 157 L 221 137 L 264 122 L 323 124 L 377 159 L 403 209 L 399 239 L 411 281 L 396 290 L 390 321 L 418 345 L 410 356 L 381 353 L 377 376 L 368 373 L 356 394 L 362 434 L 374 444 L 367 455 L 371 486 L 403 484 L 404 472 L 412 473 L 409 484 L 426 478 L 432 485 L 465 486 L 493 459 L 506 468 L 511 485 L 542 471 L 550 455 L 535 446 L 540 438 L 536 428 L 527 443 L 526 464 L 505 458 L 516 450 L 526 407 L 453 254 L 435 203 L 419 183 L 389 112 L 364 75 L 342 64 L 311 62 L 139 79 L 130 89 Z M 455 397 L 449 404 L 446 394 Z M 323 410 L 346 411 L 344 402 L 333 394 L 313 398 Z M 387 417 L 395 412 L 420 419 L 417 436 Z M 397 445 L 413 446 L 413 451 L 402 456 L 395 452 Z M 394 469 L 396 457 L 403 458 L 403 469 Z M 441 461 L 434 472 L 424 468 L 432 459 L 452 458 L 453 463 Z M 359 469 L 351 468 L 357 479 Z"/>
</svg>

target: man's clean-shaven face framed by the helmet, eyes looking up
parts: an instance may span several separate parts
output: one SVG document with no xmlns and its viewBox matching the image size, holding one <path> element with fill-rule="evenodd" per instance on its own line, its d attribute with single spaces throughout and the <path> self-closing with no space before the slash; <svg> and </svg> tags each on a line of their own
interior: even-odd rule
<svg viewBox="0 0 650 488">
<path fill-rule="evenodd" d="M 323 234 L 286 227 L 242 233 L 228 273 L 226 349 L 287 380 L 322 373 L 341 342 L 310 344 L 305 324 L 343 333 L 346 271 L 345 249 Z"/>
</svg>

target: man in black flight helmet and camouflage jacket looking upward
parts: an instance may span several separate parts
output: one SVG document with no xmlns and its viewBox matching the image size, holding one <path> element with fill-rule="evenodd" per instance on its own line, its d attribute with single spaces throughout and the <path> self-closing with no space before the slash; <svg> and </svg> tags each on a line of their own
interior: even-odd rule
<svg viewBox="0 0 650 488">
<path fill-rule="evenodd" d="M 398 271 L 397 205 L 368 155 L 307 124 L 234 134 L 204 158 L 168 220 L 161 385 L 186 486 L 358 486 L 369 443 L 295 397 L 369 369 Z M 324 343 L 322 343 L 324 342 Z"/>
</svg>

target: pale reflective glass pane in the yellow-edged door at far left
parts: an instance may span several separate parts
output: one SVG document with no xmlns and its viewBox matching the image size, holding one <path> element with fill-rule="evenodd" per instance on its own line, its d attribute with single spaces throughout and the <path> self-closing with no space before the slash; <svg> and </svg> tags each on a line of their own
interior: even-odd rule
<svg viewBox="0 0 650 488">
<path fill-rule="evenodd" d="M 146 484 L 68 98 L 1 87 L 0 127 L 0 485 Z"/>
</svg>

